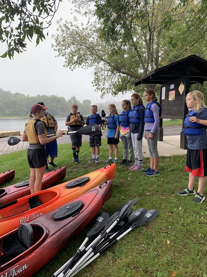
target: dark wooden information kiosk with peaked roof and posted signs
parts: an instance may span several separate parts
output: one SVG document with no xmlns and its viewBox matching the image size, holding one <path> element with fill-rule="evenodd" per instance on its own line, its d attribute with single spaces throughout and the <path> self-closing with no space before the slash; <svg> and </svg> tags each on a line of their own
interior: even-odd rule
<svg viewBox="0 0 207 277">
<path fill-rule="evenodd" d="M 193 84 L 201 84 L 207 81 L 207 61 L 191 55 L 162 68 L 156 69 L 145 75 L 133 84 L 160 84 L 160 105 L 162 117 L 160 118 L 160 141 L 163 141 L 162 119 L 182 119 L 183 126 L 185 116 L 188 113 L 185 104 L 185 96 Z M 183 135 L 183 127 L 180 138 L 180 148 L 187 149 L 187 139 Z"/>
</svg>

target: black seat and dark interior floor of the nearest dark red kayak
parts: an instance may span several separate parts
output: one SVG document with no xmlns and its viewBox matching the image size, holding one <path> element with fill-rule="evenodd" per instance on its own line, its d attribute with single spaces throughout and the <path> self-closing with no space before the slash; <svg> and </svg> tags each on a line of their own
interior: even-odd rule
<svg viewBox="0 0 207 277">
<path fill-rule="evenodd" d="M 34 244 L 32 226 L 22 223 L 18 232 L 0 242 L 0 266 L 22 254 Z"/>
</svg>

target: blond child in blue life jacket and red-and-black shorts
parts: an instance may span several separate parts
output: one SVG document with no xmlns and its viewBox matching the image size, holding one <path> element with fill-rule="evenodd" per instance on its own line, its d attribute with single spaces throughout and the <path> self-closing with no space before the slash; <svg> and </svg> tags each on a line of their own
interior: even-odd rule
<svg viewBox="0 0 207 277">
<path fill-rule="evenodd" d="M 190 109 L 183 126 L 188 142 L 185 170 L 189 172 L 189 182 L 187 188 L 178 192 L 178 195 L 195 195 L 193 203 L 200 204 L 205 199 L 203 190 L 207 179 L 207 108 L 200 91 L 189 92 L 185 102 Z M 194 188 L 196 177 L 198 192 Z"/>
</svg>

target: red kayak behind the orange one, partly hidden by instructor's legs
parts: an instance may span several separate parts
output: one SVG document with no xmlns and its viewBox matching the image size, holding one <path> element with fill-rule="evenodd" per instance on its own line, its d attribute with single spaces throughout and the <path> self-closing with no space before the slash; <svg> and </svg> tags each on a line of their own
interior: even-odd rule
<svg viewBox="0 0 207 277">
<path fill-rule="evenodd" d="M 14 170 L 12 170 L 14 171 Z M 66 167 L 59 167 L 54 171 L 45 173 L 42 179 L 42 190 L 54 184 L 55 182 L 62 181 L 66 176 Z M 29 180 L 19 184 L 0 188 L 0 205 L 19 199 L 21 197 L 31 194 L 29 188 Z"/>
</svg>

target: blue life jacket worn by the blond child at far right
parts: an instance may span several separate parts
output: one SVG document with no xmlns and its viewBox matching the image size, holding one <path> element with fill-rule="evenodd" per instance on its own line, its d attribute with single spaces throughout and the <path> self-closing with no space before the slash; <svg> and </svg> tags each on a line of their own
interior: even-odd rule
<svg viewBox="0 0 207 277">
<path fill-rule="evenodd" d="M 207 110 L 207 108 L 204 109 Z M 189 121 L 189 117 L 196 116 L 197 114 L 198 112 L 189 111 L 189 113 L 186 115 L 183 126 L 183 134 L 191 136 L 198 136 L 203 134 L 202 129 L 207 128 L 207 126 Z"/>
</svg>

